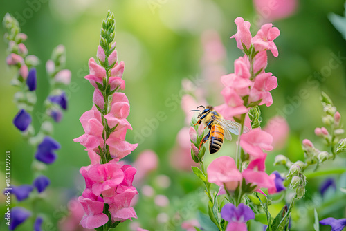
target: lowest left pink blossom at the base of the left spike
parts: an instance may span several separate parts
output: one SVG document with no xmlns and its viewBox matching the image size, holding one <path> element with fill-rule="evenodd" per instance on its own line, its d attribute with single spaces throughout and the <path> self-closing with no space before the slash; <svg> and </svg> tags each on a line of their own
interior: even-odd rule
<svg viewBox="0 0 346 231">
<path fill-rule="evenodd" d="M 78 198 L 78 201 L 82 204 L 85 212 L 82 221 L 80 221 L 80 225 L 84 228 L 94 229 L 107 223 L 108 216 L 102 213 L 104 206 L 102 201 L 92 201 L 82 196 Z"/>
</svg>

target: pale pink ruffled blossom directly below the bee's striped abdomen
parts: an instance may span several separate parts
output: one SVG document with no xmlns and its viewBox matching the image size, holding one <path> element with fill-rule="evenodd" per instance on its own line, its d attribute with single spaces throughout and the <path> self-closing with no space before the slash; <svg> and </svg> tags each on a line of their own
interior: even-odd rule
<svg viewBox="0 0 346 231">
<path fill-rule="evenodd" d="M 208 181 L 216 185 L 225 183 L 227 190 L 235 190 L 242 181 L 242 174 L 235 166 L 235 160 L 230 156 L 220 156 L 207 168 Z"/>
</svg>

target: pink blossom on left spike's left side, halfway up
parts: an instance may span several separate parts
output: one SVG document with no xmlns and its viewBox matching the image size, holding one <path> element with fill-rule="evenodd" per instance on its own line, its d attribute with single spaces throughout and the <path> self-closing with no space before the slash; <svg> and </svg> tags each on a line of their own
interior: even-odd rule
<svg viewBox="0 0 346 231">
<path fill-rule="evenodd" d="M 91 110 L 83 113 L 80 117 L 80 122 L 85 134 L 73 139 L 73 141 L 79 142 L 81 145 L 86 147 L 87 151 L 97 149 L 98 146 L 103 147 L 103 125 L 100 111 L 98 111 L 94 106 Z"/>
</svg>

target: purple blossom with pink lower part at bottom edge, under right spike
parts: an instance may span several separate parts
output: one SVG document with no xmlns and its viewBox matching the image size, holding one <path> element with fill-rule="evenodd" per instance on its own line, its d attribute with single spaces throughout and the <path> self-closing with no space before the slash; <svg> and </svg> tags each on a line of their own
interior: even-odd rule
<svg viewBox="0 0 346 231">
<path fill-rule="evenodd" d="M 221 217 L 228 221 L 226 231 L 237 230 L 246 231 L 246 222 L 251 219 L 255 219 L 255 213 L 250 207 L 240 203 L 238 207 L 228 203 L 221 209 Z"/>
</svg>

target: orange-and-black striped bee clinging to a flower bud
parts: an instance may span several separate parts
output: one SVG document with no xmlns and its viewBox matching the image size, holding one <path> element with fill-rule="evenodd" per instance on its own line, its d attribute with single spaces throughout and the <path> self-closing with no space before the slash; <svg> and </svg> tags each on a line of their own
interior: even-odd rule
<svg viewBox="0 0 346 231">
<path fill-rule="evenodd" d="M 191 110 L 200 112 L 197 116 L 197 119 L 199 120 L 194 125 L 201 124 L 203 122 L 203 124 L 206 124 L 206 127 L 208 127 L 209 131 L 208 134 L 201 140 L 199 149 L 201 149 L 201 146 L 210 138 L 209 152 L 210 154 L 215 154 L 217 151 L 219 151 L 219 149 L 221 149 L 222 144 L 224 143 L 224 138 L 226 138 L 227 140 L 232 140 L 232 136 L 230 135 L 230 133 L 239 135 L 239 130 L 242 126 L 235 121 L 225 120 L 217 111 L 214 110 L 212 106 L 204 107 L 203 105 L 201 105 L 197 107 L 197 109 L 199 109 L 200 107 L 203 107 L 203 111 Z M 244 127 L 244 131 L 247 132 L 248 128 Z"/>
</svg>

